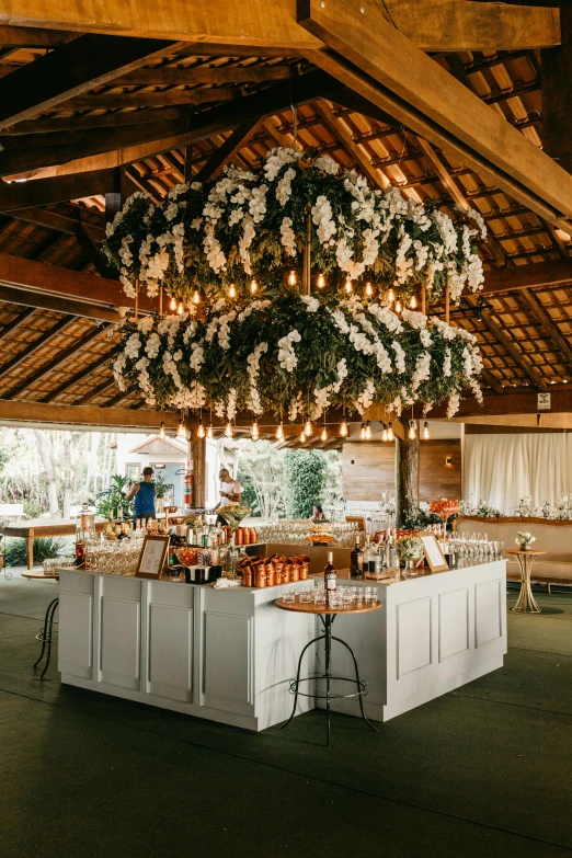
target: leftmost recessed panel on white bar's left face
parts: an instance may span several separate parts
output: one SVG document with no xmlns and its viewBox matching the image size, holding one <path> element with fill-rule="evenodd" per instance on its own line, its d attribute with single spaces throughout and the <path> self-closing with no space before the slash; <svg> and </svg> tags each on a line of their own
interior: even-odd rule
<svg viewBox="0 0 572 858">
<path fill-rule="evenodd" d="M 90 678 L 93 675 L 93 596 L 59 594 L 58 667 L 62 673 Z"/>
</svg>

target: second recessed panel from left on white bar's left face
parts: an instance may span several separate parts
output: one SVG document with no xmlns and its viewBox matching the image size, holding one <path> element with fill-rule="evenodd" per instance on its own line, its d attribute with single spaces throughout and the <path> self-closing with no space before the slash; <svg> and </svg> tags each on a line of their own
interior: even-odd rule
<svg viewBox="0 0 572 858">
<path fill-rule="evenodd" d="M 140 686 L 141 604 L 130 599 L 101 600 L 101 679 L 123 688 Z"/>
</svg>

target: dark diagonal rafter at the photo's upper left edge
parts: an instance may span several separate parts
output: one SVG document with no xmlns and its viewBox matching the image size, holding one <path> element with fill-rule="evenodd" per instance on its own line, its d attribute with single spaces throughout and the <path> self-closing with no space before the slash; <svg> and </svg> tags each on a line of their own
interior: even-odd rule
<svg viewBox="0 0 572 858">
<path fill-rule="evenodd" d="M 155 38 L 80 36 L 0 80 L 0 128 L 53 110 L 173 49 L 175 44 Z"/>
</svg>

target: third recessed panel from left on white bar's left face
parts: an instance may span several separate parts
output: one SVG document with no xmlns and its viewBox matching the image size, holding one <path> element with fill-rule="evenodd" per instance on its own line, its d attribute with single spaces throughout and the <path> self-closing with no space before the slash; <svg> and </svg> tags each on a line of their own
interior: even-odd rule
<svg viewBox="0 0 572 858">
<path fill-rule="evenodd" d="M 193 698 L 193 610 L 149 606 L 149 688 L 175 700 Z"/>
</svg>

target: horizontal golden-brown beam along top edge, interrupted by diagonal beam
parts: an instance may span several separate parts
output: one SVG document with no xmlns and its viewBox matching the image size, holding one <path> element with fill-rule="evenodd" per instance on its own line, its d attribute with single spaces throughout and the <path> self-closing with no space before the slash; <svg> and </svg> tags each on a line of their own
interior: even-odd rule
<svg viewBox="0 0 572 858">
<path fill-rule="evenodd" d="M 354 14 L 359 8 L 370 10 L 373 5 L 366 0 L 362 7 L 352 3 L 348 13 Z M 379 13 L 381 20 L 387 21 L 390 15 L 394 26 L 424 50 L 517 49 L 550 47 L 560 42 L 556 9 L 465 0 L 385 0 L 385 5 L 388 11 Z M 100 0 L 95 15 L 82 0 L 18 0 L 15 7 L 11 0 L 1 0 L 0 24 L 182 39 L 197 43 L 197 47 L 206 42 L 211 43 L 209 50 L 213 45 L 226 46 L 229 55 L 231 46 L 285 52 L 320 46 L 319 37 L 297 25 L 291 0 L 273 0 L 272 14 L 261 9 L 258 0 L 225 0 L 213 14 L 209 0 L 170 0 L 158 14 L 155 0 Z"/>
</svg>

